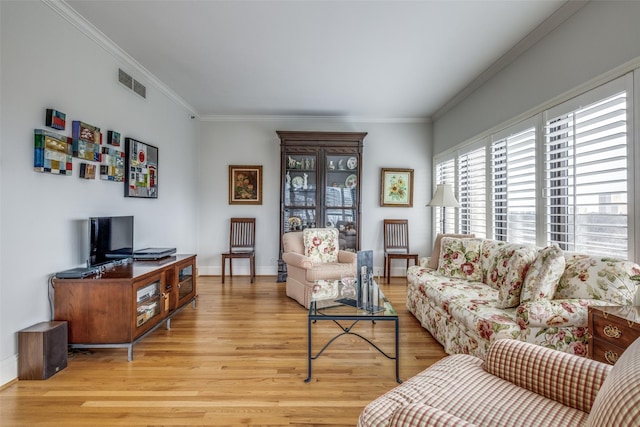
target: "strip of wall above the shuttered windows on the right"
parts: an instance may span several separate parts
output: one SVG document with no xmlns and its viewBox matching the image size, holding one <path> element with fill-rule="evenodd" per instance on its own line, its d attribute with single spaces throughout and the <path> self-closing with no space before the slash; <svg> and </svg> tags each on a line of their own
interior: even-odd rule
<svg viewBox="0 0 640 427">
<path fill-rule="evenodd" d="M 640 2 L 592 1 L 433 122 L 434 154 L 640 56 Z"/>
</svg>

